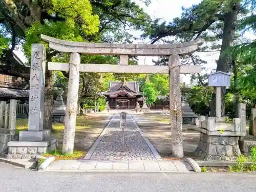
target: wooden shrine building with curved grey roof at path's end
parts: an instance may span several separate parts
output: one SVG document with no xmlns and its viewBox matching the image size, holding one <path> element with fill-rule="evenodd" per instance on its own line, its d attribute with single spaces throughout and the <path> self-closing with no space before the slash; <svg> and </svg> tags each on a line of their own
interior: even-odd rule
<svg viewBox="0 0 256 192">
<path fill-rule="evenodd" d="M 135 109 L 136 103 L 143 105 L 143 94 L 139 91 L 139 84 L 136 81 L 110 81 L 109 90 L 102 92 L 109 101 L 110 109 Z"/>
</svg>

